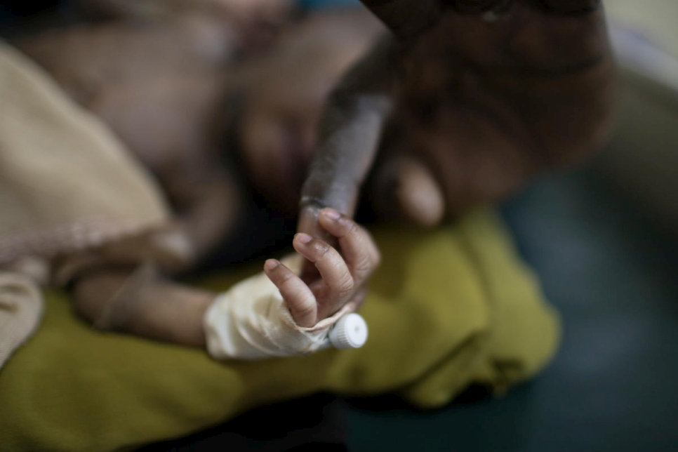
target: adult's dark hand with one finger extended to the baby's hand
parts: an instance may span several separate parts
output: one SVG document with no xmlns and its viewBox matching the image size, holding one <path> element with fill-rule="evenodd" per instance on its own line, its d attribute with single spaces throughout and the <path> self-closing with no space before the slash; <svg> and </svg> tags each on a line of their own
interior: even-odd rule
<svg viewBox="0 0 678 452">
<path fill-rule="evenodd" d="M 353 215 L 368 174 L 401 217 L 435 225 L 604 140 L 615 70 L 600 1 L 361 1 L 391 34 L 331 95 L 300 232 L 319 234 L 321 206 Z"/>
</svg>

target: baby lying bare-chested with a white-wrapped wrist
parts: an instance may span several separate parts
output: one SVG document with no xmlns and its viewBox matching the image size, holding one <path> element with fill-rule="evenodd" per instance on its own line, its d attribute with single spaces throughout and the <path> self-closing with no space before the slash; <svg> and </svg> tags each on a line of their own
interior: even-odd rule
<svg viewBox="0 0 678 452">
<path fill-rule="evenodd" d="M 192 262 L 237 221 L 242 187 L 219 158 L 230 94 L 242 93 L 245 99 L 239 141 L 251 179 L 272 203 L 293 211 L 326 93 L 380 30 L 365 13 L 319 15 L 288 32 L 269 55 L 227 70 L 220 64 L 228 60 L 227 53 L 215 58 L 215 53 L 203 51 L 219 46 L 201 39 L 219 41 L 218 35 L 201 32 L 199 25 L 210 24 L 192 19 L 154 25 L 164 27 L 167 45 L 157 39 L 157 28 L 130 36 L 128 25 L 115 23 L 50 32 L 18 43 L 159 176 L 180 213 L 180 230 L 192 239 Z M 69 52 L 73 48 L 77 51 Z M 53 58 L 65 53 L 70 55 L 65 62 Z M 179 55 L 185 55 L 185 65 Z M 295 79 L 299 65 L 308 70 Z M 286 84 L 284 91 L 278 84 L 271 89 L 265 74 L 274 68 L 295 83 Z M 90 74 L 101 78 L 92 82 Z M 286 140 L 304 133 L 303 139 Z M 277 173 L 267 167 L 271 161 L 280 165 Z M 62 256 L 60 267 L 71 269 L 66 279 L 77 311 L 99 328 L 207 346 L 215 357 L 262 357 L 262 348 L 267 356 L 311 352 L 326 346 L 331 326 L 357 308 L 379 260 L 364 229 L 332 209 L 321 216 L 324 230 L 339 245 L 333 248 L 307 234 L 295 237 L 295 250 L 319 272 L 304 281 L 298 277 L 298 263 L 268 260 L 265 274 L 272 284 L 258 277 L 227 295 L 198 291 L 164 279 L 134 259 L 121 265 L 111 257 L 134 248 L 139 239 L 109 244 L 84 253 L 86 257 Z M 176 268 L 155 263 L 166 272 Z M 227 324 L 232 327 L 215 327 Z M 264 347 L 252 339 L 252 331 L 262 325 L 295 342 L 289 345 L 265 334 L 272 343 Z M 228 331 L 239 331 L 246 345 L 240 341 L 235 347 L 239 341 Z"/>
</svg>

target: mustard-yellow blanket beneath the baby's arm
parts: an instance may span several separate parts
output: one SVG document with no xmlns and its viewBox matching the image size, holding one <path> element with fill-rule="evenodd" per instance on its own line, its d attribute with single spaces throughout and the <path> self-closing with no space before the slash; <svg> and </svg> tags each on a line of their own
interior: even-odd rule
<svg viewBox="0 0 678 452">
<path fill-rule="evenodd" d="M 48 293 L 44 324 L 0 371 L 3 451 L 110 451 L 180 437 L 248 408 L 318 391 L 396 392 L 446 404 L 471 383 L 503 392 L 557 347 L 557 316 L 500 220 L 479 211 L 435 232 L 375 231 L 383 266 L 359 350 L 255 362 L 100 333 Z M 206 281 L 227 288 L 259 269 Z"/>
</svg>

